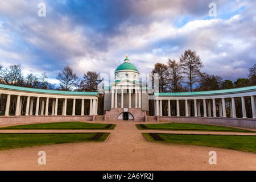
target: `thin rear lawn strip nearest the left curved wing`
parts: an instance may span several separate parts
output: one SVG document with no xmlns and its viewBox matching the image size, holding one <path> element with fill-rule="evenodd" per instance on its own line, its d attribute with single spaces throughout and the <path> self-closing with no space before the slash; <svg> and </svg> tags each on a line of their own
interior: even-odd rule
<svg viewBox="0 0 256 182">
<path fill-rule="evenodd" d="M 55 122 L 0 127 L 0 130 L 113 130 L 115 125 L 85 122 Z"/>
</svg>

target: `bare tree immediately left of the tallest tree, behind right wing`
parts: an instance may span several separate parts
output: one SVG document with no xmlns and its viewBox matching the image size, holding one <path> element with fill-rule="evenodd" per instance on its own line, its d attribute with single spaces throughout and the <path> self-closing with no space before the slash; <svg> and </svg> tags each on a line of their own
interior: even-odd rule
<svg viewBox="0 0 256 182">
<path fill-rule="evenodd" d="M 168 81 L 171 84 L 171 90 L 172 92 L 180 92 L 182 85 L 181 85 L 181 81 L 183 80 L 183 76 L 182 76 L 182 68 L 181 68 L 181 64 L 176 62 L 175 59 L 173 60 L 168 60 L 167 61 L 167 65 L 168 65 L 168 72 L 169 72 L 169 78 Z"/>
</svg>

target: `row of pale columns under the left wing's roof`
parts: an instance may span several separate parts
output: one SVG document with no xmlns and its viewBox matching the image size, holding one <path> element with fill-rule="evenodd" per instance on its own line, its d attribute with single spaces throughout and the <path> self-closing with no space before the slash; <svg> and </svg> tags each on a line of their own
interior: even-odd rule
<svg viewBox="0 0 256 182">
<path fill-rule="evenodd" d="M 7 95 L 7 100 L 6 100 L 6 107 L 5 107 L 5 115 L 8 116 L 10 114 L 10 103 L 11 103 L 11 94 L 6 94 Z M 1 94 L 0 94 L 1 96 Z M 81 115 L 85 115 L 85 110 L 84 110 L 84 100 L 88 98 L 52 98 L 52 97 L 39 97 L 39 96 L 22 96 L 22 95 L 17 95 L 16 99 L 16 107 L 15 107 L 15 115 L 22 115 L 22 99 L 25 99 L 27 97 L 26 101 L 26 111 L 25 115 L 33 115 L 33 109 L 34 109 L 34 100 L 36 100 L 35 104 L 35 115 L 48 115 L 49 114 L 49 99 L 52 100 L 52 110 L 51 110 L 51 115 L 58 115 L 58 106 L 60 100 L 62 100 L 62 114 L 61 115 L 67 115 L 67 100 L 72 99 L 73 100 L 73 106 L 72 106 L 72 115 L 76 115 L 76 101 L 81 100 Z M 41 100 L 41 102 L 40 102 Z M 98 113 L 98 99 L 97 97 L 94 98 L 89 98 L 90 100 L 90 110 L 89 110 L 89 115 L 97 115 Z M 41 103 L 40 106 L 40 111 L 39 111 L 39 104 Z"/>
</svg>

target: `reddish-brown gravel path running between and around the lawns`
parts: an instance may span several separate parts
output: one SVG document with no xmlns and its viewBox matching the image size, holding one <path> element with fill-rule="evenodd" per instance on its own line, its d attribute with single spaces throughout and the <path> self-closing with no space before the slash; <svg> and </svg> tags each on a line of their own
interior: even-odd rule
<svg viewBox="0 0 256 182">
<path fill-rule="evenodd" d="M 106 123 L 106 122 L 105 122 Z M 138 130 L 136 122 L 109 122 L 114 130 L 43 130 L 43 132 L 110 132 L 106 142 L 69 143 L 0 151 L 1 170 L 256 170 L 256 155 L 224 148 L 150 143 L 142 132 L 202 134 L 200 131 Z M 149 123 L 149 122 L 147 122 Z M 6 132 L 2 130 L 1 132 Z M 8 132 L 24 132 L 9 130 Z M 26 130 L 42 132 L 42 130 Z M 205 131 L 204 134 L 213 134 Z M 224 133 L 214 134 L 245 134 Z M 252 134 L 246 134 L 252 135 Z M 39 151 L 47 164 L 39 165 Z M 217 152 L 217 165 L 208 164 L 208 152 Z"/>
</svg>

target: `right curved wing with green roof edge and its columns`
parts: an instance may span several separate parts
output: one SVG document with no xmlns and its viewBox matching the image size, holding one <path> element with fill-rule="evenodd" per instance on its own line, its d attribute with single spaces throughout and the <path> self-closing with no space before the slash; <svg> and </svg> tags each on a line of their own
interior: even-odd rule
<svg viewBox="0 0 256 182">
<path fill-rule="evenodd" d="M 162 101 L 167 100 L 168 116 L 171 116 L 172 110 L 175 110 L 176 115 L 172 116 L 180 117 L 180 109 L 183 109 L 185 110 L 184 117 L 226 118 L 226 112 L 229 111 L 230 117 L 237 118 L 237 101 L 241 103 L 242 118 L 247 118 L 247 104 L 251 107 L 251 118 L 255 119 L 255 96 L 256 86 L 191 93 L 155 93 L 155 115 L 162 116 Z M 245 98 L 250 104 L 245 102 Z M 171 108 L 171 102 L 176 102 L 176 108 Z M 185 102 L 183 108 L 180 108 L 180 102 Z M 191 110 L 193 110 L 193 113 Z"/>
</svg>

